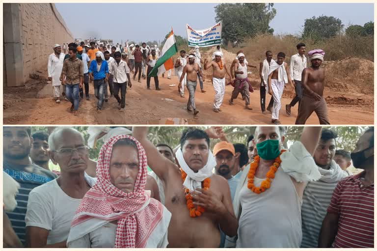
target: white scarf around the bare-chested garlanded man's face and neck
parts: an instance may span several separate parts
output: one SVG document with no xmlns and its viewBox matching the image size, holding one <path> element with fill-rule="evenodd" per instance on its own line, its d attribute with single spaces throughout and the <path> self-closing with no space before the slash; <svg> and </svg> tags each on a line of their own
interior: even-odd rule
<svg viewBox="0 0 377 251">
<path fill-rule="evenodd" d="M 178 151 L 175 152 L 175 156 L 177 157 L 179 166 L 187 174 L 186 179 L 183 182 L 183 186 L 190 191 L 194 191 L 196 188 L 202 188 L 201 182 L 214 174 L 212 171 L 216 166 L 216 160 L 214 154 L 210 150 L 208 151 L 208 160 L 206 165 L 199 169 L 197 173 L 194 173 L 194 171 L 192 171 L 188 166 L 183 157 L 183 152 L 181 149 L 178 149 Z"/>
</svg>

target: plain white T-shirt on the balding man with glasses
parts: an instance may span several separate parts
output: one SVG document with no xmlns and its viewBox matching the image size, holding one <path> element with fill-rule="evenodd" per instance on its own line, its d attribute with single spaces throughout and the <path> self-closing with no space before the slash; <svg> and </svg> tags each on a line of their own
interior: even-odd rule
<svg viewBox="0 0 377 251">
<path fill-rule="evenodd" d="M 85 173 L 89 186 L 97 179 Z M 27 202 L 26 226 L 37 226 L 49 230 L 47 245 L 67 240 L 71 222 L 81 199 L 69 197 L 61 190 L 56 179 L 31 190 Z"/>
</svg>

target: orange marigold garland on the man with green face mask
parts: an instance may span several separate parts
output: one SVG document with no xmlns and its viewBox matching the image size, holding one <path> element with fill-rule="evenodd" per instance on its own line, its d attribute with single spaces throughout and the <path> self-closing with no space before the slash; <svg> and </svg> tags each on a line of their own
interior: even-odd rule
<svg viewBox="0 0 377 251">
<path fill-rule="evenodd" d="M 260 194 L 260 193 L 265 192 L 267 189 L 271 187 L 271 181 L 275 177 L 275 173 L 277 172 L 277 169 L 279 168 L 280 163 L 281 163 L 280 155 L 284 151 L 285 150 L 281 150 L 279 156 L 275 158 L 274 163 L 269 168 L 269 172 L 267 172 L 266 174 L 267 178 L 262 181 L 260 187 L 256 187 L 254 185 L 254 176 L 255 176 L 255 172 L 257 171 L 257 168 L 259 167 L 259 161 L 261 160 L 261 158 L 259 157 L 259 155 L 256 155 L 254 157 L 254 162 L 250 164 L 250 170 L 247 174 L 247 178 L 248 178 L 247 188 L 248 189 L 250 189 L 256 194 Z"/>
</svg>

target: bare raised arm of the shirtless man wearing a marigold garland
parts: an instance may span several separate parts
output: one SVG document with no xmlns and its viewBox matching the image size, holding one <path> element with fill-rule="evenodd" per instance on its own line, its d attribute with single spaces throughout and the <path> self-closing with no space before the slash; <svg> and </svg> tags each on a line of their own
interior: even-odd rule
<svg viewBox="0 0 377 251">
<path fill-rule="evenodd" d="M 148 166 L 152 171 L 163 181 L 166 180 L 169 171 L 176 171 L 174 164 L 161 155 L 157 148 L 147 138 L 148 127 L 135 126 L 133 127 L 132 135 L 143 146 L 148 159 Z"/>
</svg>

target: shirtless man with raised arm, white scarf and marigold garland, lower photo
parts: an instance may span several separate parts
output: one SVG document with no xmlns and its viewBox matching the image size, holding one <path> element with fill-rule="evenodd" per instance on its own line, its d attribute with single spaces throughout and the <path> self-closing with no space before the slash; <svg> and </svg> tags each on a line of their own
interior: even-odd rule
<svg viewBox="0 0 377 251">
<path fill-rule="evenodd" d="M 168 229 L 168 247 L 218 248 L 220 245 L 219 228 L 226 235 L 235 236 L 238 223 L 233 212 L 229 186 L 223 177 L 212 173 L 216 162 L 209 150 L 208 135 L 202 130 L 193 128 L 183 132 L 181 147 L 176 153 L 180 167 L 187 171 L 181 173 L 174 163 L 163 157 L 147 139 L 147 133 L 147 127 L 134 127 L 133 136 L 145 149 L 148 166 L 159 176 L 165 188 L 165 206 L 172 214 Z M 183 182 L 182 175 L 185 174 L 188 176 Z M 192 178 L 197 174 L 210 178 L 208 190 L 196 188 L 202 187 L 201 184 L 205 183 Z M 196 185 L 191 189 L 195 192 L 186 196 L 193 197 L 195 207 L 199 205 L 205 208 L 205 212 L 196 216 L 196 219 L 190 216 L 191 211 L 188 210 L 185 198 L 183 183 L 187 188 L 187 181 L 189 184 Z"/>
</svg>

